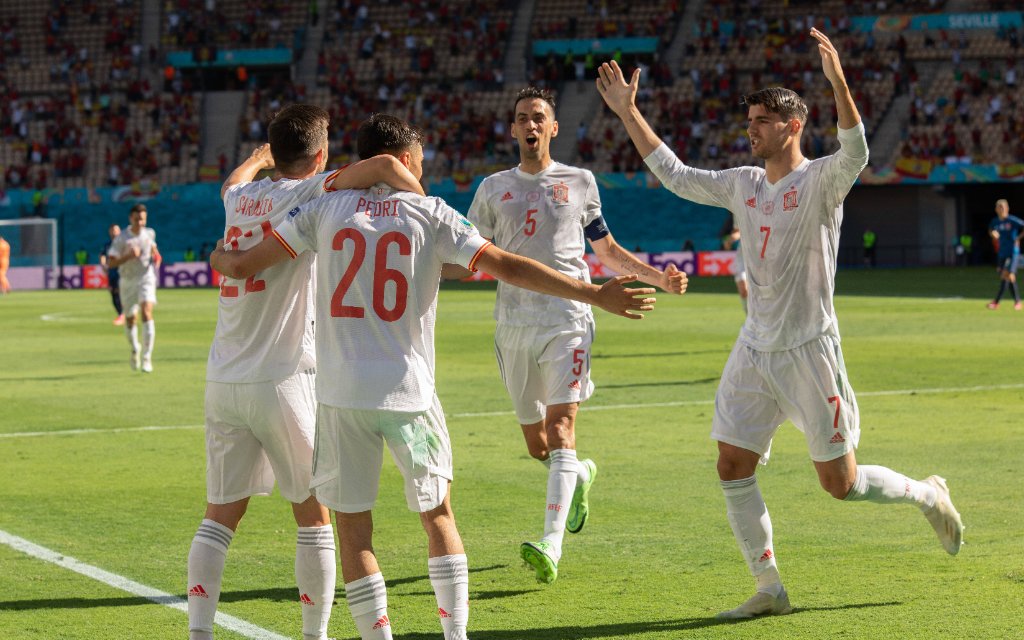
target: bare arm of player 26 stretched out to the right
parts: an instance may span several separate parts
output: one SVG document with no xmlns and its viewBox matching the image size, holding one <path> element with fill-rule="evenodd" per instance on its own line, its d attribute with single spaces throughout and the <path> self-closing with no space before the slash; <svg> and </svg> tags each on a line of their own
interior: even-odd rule
<svg viewBox="0 0 1024 640">
<path fill-rule="evenodd" d="M 654 308 L 655 299 L 648 297 L 654 293 L 653 289 L 624 287 L 626 283 L 636 281 L 636 274 L 618 275 L 606 282 L 604 286 L 597 287 L 559 273 L 537 260 L 503 251 L 494 245 L 487 246 L 477 258 L 476 266 L 510 285 L 550 296 L 579 300 L 632 319 L 643 317 L 643 313 L 636 311 L 649 311 Z"/>
</svg>

